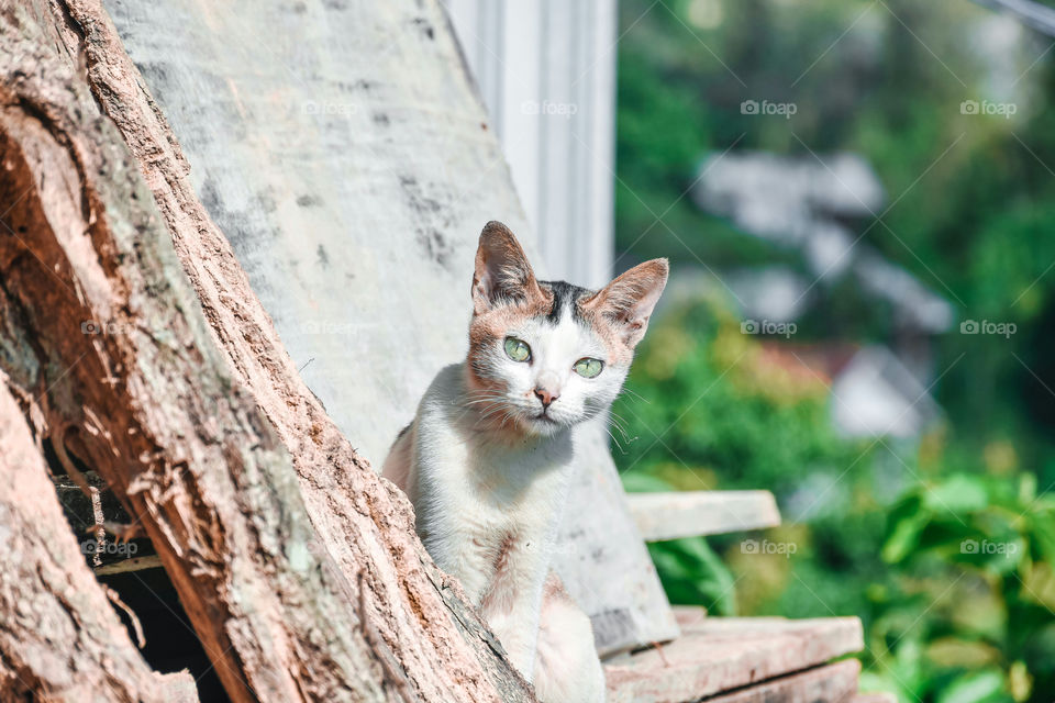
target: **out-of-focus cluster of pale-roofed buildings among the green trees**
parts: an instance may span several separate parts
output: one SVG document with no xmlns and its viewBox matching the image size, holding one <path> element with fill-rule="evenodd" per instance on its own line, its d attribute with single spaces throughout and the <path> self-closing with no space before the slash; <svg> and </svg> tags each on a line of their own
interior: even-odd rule
<svg viewBox="0 0 1055 703">
<path fill-rule="evenodd" d="M 748 319 L 789 323 L 806 313 L 811 291 L 852 277 L 867 299 L 892 311 L 892 347 L 844 345 L 788 350 L 831 381 L 832 419 L 855 436 L 913 437 L 940 415 L 929 392 L 931 341 L 949 328 L 953 308 L 903 267 L 862 244 L 855 223 L 880 216 L 886 194 L 856 154 L 786 157 L 725 154 L 704 159 L 692 198 L 743 232 L 797 250 L 809 275 L 787 267 L 741 271 L 729 284 Z M 774 343 L 779 345 L 780 343 Z M 778 357 L 779 358 L 779 357 Z M 793 359 L 793 360 L 792 360 Z"/>
</svg>

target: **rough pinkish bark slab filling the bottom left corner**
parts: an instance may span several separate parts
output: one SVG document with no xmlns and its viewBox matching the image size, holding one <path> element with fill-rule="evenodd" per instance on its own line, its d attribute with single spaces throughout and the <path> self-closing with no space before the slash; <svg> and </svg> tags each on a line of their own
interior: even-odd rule
<svg viewBox="0 0 1055 703">
<path fill-rule="evenodd" d="M 0 701 L 196 703 L 189 674 L 151 671 L 96 583 L 7 380 L 0 372 Z"/>
</svg>

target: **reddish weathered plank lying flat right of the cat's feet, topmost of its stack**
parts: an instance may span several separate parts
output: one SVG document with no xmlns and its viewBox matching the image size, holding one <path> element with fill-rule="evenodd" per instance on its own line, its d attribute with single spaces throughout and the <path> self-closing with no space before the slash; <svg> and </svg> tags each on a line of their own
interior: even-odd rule
<svg viewBox="0 0 1055 703">
<path fill-rule="evenodd" d="M 609 660 L 609 703 L 692 701 L 817 667 L 864 647 L 856 617 L 702 617 L 696 623 L 682 620 L 681 631 L 681 637 L 662 648 Z"/>
</svg>

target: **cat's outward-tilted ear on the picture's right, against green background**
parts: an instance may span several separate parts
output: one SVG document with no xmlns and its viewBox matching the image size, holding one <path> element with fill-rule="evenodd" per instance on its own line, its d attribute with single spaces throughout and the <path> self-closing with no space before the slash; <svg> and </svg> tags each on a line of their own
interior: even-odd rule
<svg viewBox="0 0 1055 703">
<path fill-rule="evenodd" d="M 600 313 L 615 326 L 623 344 L 633 348 L 645 336 L 648 317 L 667 284 L 669 271 L 667 259 L 638 264 L 581 303 L 581 306 Z"/>
</svg>

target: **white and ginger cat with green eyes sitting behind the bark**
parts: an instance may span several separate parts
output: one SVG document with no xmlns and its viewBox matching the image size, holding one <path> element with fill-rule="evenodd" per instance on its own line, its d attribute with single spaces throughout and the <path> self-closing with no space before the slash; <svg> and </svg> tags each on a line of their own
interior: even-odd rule
<svg viewBox="0 0 1055 703">
<path fill-rule="evenodd" d="M 535 279 L 489 222 L 473 276 L 469 353 L 444 368 L 385 461 L 436 563 L 458 578 L 540 701 L 604 700 L 589 618 L 549 571 L 574 428 L 619 394 L 667 281 L 646 261 L 600 291 Z"/>
</svg>

